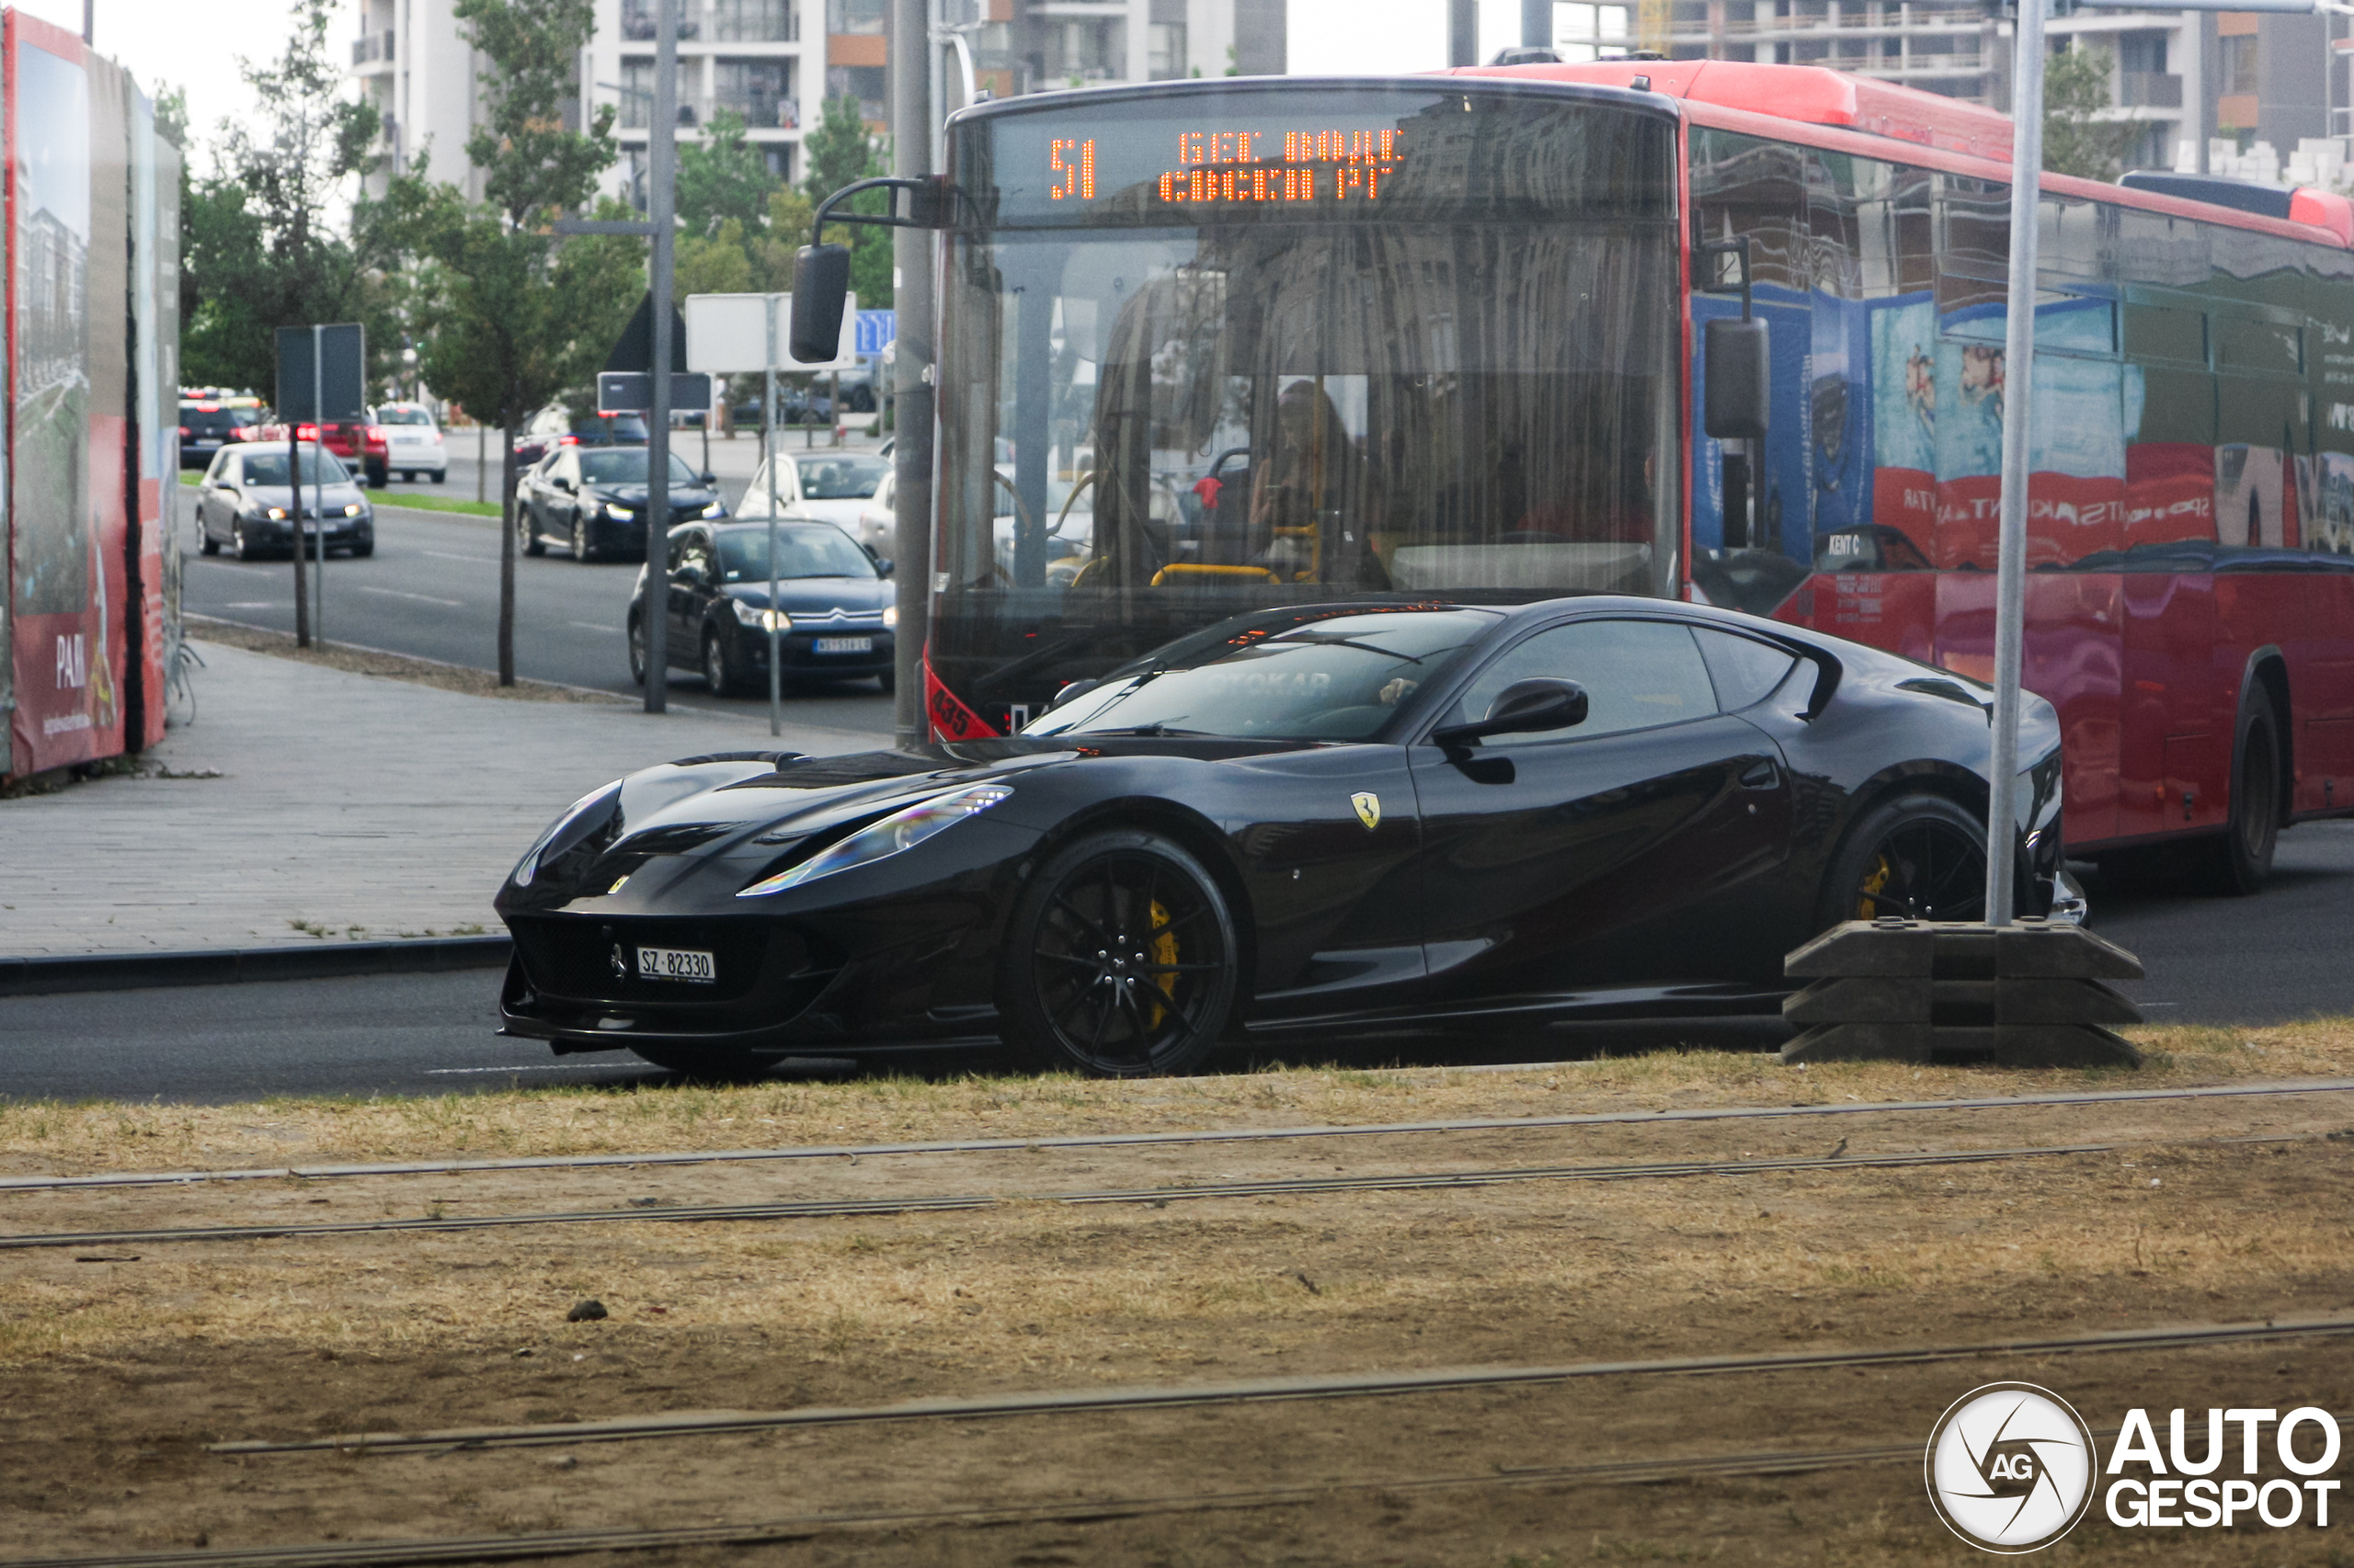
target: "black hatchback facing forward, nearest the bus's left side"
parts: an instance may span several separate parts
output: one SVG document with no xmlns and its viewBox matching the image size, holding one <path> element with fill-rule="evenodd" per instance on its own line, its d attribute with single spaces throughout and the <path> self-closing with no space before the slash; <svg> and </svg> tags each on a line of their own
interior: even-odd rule
<svg viewBox="0 0 2354 1568">
<path fill-rule="evenodd" d="M 777 523 L 777 603 L 767 603 L 767 523 L 671 530 L 669 664 L 713 695 L 767 687 L 767 629 L 786 685 L 873 678 L 892 690 L 890 560 L 831 523 Z M 645 683 L 645 582 L 629 600 L 629 673 Z"/>
</svg>

